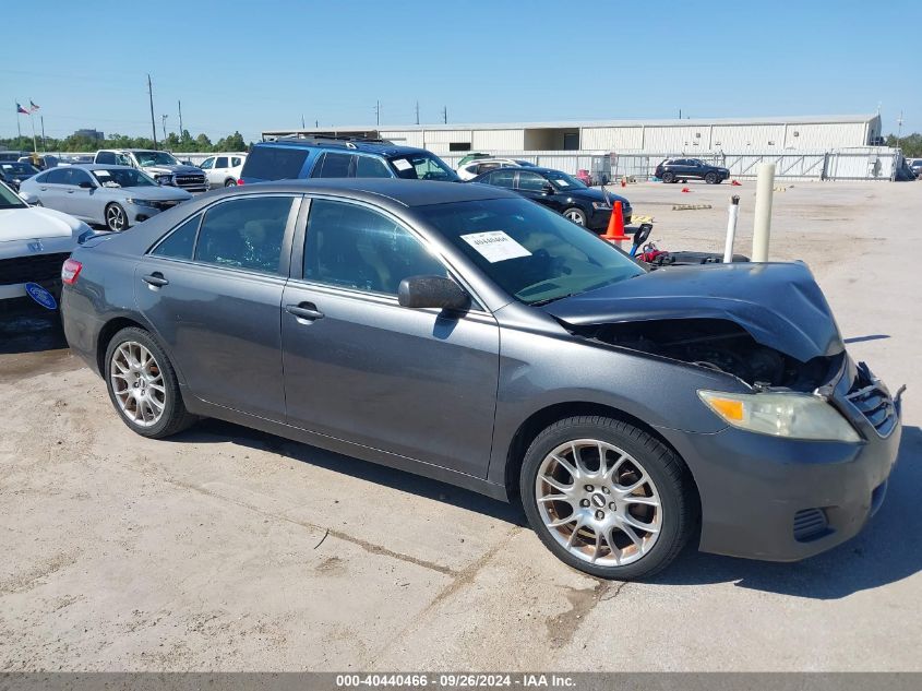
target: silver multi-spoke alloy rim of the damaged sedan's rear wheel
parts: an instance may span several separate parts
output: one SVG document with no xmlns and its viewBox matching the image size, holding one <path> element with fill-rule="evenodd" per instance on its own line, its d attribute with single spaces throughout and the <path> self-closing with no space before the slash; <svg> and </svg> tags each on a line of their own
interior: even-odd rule
<svg viewBox="0 0 922 691">
<path fill-rule="evenodd" d="M 135 341 L 116 348 L 109 365 L 112 393 L 121 413 L 135 425 L 156 425 L 166 408 L 166 388 L 153 354 Z"/>
</svg>

